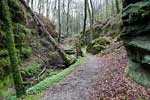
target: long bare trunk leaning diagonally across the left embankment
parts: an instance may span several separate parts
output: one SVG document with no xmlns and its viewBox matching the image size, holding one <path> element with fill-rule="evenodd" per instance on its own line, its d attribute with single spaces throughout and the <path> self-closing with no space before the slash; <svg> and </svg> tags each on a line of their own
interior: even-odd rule
<svg viewBox="0 0 150 100">
<path fill-rule="evenodd" d="M 28 12 L 32 15 L 35 23 L 37 24 L 37 26 L 41 29 L 41 31 L 43 33 L 45 33 L 48 38 L 49 41 L 52 43 L 52 45 L 57 49 L 58 53 L 60 54 L 60 56 L 62 57 L 62 59 L 65 61 L 66 66 L 69 66 L 71 64 L 70 59 L 68 59 L 67 55 L 65 54 L 65 52 L 59 48 L 57 42 L 54 40 L 54 38 L 51 36 L 51 34 L 47 31 L 47 29 L 44 27 L 44 24 L 40 21 L 40 19 L 36 16 L 36 14 L 34 14 L 34 12 L 31 10 L 31 8 L 26 4 L 26 2 L 24 0 L 19 0 L 24 6 L 25 8 L 28 10 Z"/>
</svg>

